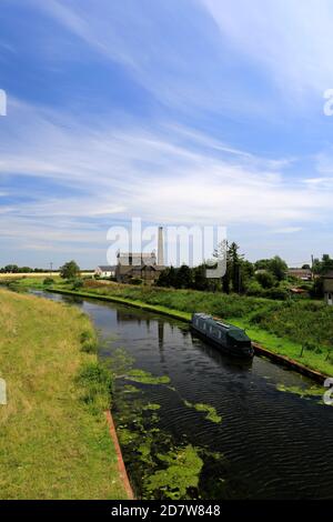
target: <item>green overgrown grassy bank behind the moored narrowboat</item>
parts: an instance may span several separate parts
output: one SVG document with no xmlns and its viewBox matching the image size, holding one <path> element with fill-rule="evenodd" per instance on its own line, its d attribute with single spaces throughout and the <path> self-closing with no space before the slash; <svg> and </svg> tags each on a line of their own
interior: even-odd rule
<svg viewBox="0 0 333 522">
<path fill-rule="evenodd" d="M 65 283 L 56 285 L 70 288 Z M 87 280 L 81 292 L 119 302 L 152 305 L 189 319 L 193 311 L 245 328 L 253 341 L 327 375 L 333 375 L 333 309 L 319 301 L 273 301 L 193 290 L 171 290 Z M 147 307 L 148 308 L 148 307 Z"/>
</svg>

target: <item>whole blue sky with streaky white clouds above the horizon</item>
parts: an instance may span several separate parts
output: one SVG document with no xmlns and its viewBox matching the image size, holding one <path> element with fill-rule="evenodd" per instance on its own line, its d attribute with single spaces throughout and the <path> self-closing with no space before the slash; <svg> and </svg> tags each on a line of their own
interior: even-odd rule
<svg viewBox="0 0 333 522">
<path fill-rule="evenodd" d="M 332 1 L 0 8 L 0 265 L 104 263 L 132 217 L 333 254 Z"/>
</svg>

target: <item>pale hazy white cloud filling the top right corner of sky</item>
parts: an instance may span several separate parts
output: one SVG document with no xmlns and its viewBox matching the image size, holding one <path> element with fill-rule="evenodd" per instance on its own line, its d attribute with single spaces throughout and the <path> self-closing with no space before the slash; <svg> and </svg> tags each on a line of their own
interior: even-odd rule
<svg viewBox="0 0 333 522">
<path fill-rule="evenodd" d="M 330 0 L 201 0 L 221 34 L 293 99 L 333 84 Z"/>
</svg>

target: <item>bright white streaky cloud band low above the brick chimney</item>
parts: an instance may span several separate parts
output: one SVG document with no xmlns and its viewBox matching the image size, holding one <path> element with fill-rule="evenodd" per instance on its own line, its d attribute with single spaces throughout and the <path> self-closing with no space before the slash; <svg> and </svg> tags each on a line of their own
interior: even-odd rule
<svg viewBox="0 0 333 522">
<path fill-rule="evenodd" d="M 169 122 L 149 130 L 135 123 L 80 127 L 68 116 L 18 101 L 11 112 L 10 132 L 1 127 L 0 179 L 19 175 L 39 180 L 40 189 L 54 187 L 28 201 L 20 200 L 23 183 L 16 189 L 17 202 L 2 208 L 11 235 L 93 242 L 84 230 L 95 222 L 103 241 L 114 220 L 133 215 L 155 223 L 294 230 L 330 213 L 329 193 L 285 175 L 289 160 L 255 157 L 191 129 Z"/>
</svg>

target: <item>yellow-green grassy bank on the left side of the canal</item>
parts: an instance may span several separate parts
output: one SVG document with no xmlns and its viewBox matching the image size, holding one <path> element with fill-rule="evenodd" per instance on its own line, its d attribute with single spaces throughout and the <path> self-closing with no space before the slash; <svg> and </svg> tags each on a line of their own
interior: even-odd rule
<svg viewBox="0 0 333 522">
<path fill-rule="evenodd" d="M 0 290 L 0 498 L 124 499 L 89 319 Z"/>
</svg>

